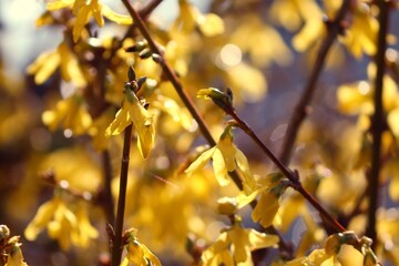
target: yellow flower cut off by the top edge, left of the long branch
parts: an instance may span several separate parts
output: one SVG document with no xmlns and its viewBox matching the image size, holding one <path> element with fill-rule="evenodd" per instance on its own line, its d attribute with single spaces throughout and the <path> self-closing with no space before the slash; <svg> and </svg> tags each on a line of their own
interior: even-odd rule
<svg viewBox="0 0 399 266">
<path fill-rule="evenodd" d="M 73 4 L 73 6 L 72 6 Z M 47 3 L 47 10 L 53 11 L 72 6 L 72 13 L 76 20 L 73 24 L 73 41 L 78 42 L 84 25 L 89 22 L 91 17 L 94 17 L 95 22 L 101 28 L 104 24 L 104 19 L 116 22 L 119 24 L 132 24 L 133 20 L 127 16 L 115 13 L 108 6 L 102 4 L 99 0 L 54 0 Z"/>
</svg>

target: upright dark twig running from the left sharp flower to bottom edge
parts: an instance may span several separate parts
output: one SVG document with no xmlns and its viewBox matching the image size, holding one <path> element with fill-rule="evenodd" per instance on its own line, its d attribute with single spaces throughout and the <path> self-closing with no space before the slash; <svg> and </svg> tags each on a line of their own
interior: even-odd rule
<svg viewBox="0 0 399 266">
<path fill-rule="evenodd" d="M 121 257 L 123 250 L 122 231 L 123 231 L 123 219 L 124 219 L 124 211 L 125 211 L 125 202 L 126 202 L 127 172 L 129 172 L 131 140 L 132 140 L 132 129 L 133 129 L 133 124 L 127 125 L 124 133 L 116 221 L 114 223 L 115 238 L 113 239 L 113 245 L 112 245 L 112 264 L 111 264 L 112 266 L 119 266 L 121 264 Z"/>
</svg>

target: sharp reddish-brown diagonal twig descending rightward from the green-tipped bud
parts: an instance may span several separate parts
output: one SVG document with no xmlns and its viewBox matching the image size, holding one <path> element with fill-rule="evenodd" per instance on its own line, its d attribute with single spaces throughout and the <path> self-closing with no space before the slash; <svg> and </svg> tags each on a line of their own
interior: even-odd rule
<svg viewBox="0 0 399 266">
<path fill-rule="evenodd" d="M 299 175 L 297 172 L 289 170 L 255 134 L 255 132 L 243 121 L 238 114 L 232 109 L 228 112 L 232 117 L 237 121 L 239 127 L 266 153 L 266 155 L 274 162 L 274 164 L 282 171 L 282 173 L 290 181 L 290 186 L 299 192 L 324 217 L 332 227 L 338 232 L 345 232 L 346 228 L 337 222 L 320 204 L 319 202 L 309 194 L 301 185 Z"/>
</svg>

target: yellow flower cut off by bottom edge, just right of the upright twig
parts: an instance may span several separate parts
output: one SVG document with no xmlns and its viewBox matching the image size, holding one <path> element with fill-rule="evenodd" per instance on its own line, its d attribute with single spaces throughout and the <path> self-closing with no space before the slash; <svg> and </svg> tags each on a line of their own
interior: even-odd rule
<svg viewBox="0 0 399 266">
<path fill-rule="evenodd" d="M 129 241 L 126 245 L 126 257 L 123 259 L 121 266 L 127 266 L 133 264 L 134 266 L 161 266 L 160 259 L 142 243 L 136 238 L 135 229 L 127 232 Z"/>
</svg>

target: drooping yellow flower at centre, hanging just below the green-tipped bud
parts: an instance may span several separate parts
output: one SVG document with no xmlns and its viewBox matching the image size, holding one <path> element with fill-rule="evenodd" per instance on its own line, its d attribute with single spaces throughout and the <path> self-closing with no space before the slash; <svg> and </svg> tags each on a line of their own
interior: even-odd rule
<svg viewBox="0 0 399 266">
<path fill-rule="evenodd" d="M 191 175 L 195 171 L 205 166 L 205 164 L 213 160 L 213 167 L 216 180 L 219 185 L 227 185 L 231 180 L 228 172 L 239 170 L 243 174 L 243 186 L 246 194 L 250 194 L 256 190 L 257 184 L 250 173 L 248 160 L 242 151 L 239 151 L 233 143 L 232 126 L 227 126 L 221 135 L 216 146 L 203 152 L 190 166 L 185 173 Z"/>
</svg>

